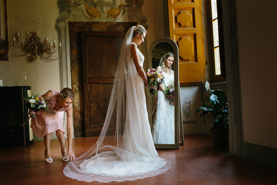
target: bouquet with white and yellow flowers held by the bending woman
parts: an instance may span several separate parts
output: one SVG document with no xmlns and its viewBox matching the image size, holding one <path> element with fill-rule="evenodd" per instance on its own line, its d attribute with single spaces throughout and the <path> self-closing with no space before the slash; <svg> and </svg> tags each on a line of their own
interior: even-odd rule
<svg viewBox="0 0 277 185">
<path fill-rule="evenodd" d="M 34 109 L 35 112 L 46 110 L 49 111 L 49 107 L 47 104 L 47 101 L 44 100 L 43 97 L 39 96 L 39 94 L 34 94 L 33 96 L 27 97 L 24 99 L 25 105 L 27 105 L 30 108 Z M 35 118 L 36 115 L 33 114 L 31 117 Z"/>
</svg>

